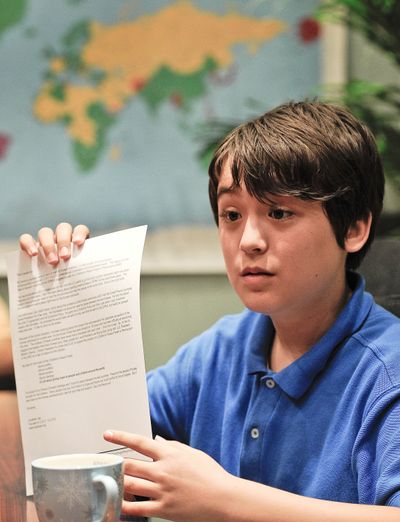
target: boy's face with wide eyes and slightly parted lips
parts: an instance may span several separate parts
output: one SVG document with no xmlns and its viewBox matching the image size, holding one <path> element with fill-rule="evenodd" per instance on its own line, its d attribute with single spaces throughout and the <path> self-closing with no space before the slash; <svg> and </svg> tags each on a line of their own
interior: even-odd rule
<svg viewBox="0 0 400 522">
<path fill-rule="evenodd" d="M 346 251 L 319 201 L 270 195 L 261 203 L 232 185 L 225 162 L 218 214 L 228 277 L 248 308 L 307 318 L 345 291 Z"/>
</svg>

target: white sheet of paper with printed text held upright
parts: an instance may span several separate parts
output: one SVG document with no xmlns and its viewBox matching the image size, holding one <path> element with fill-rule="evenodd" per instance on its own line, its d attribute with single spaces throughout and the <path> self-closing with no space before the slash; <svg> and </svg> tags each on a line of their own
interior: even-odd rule
<svg viewBox="0 0 400 522">
<path fill-rule="evenodd" d="M 139 302 L 145 235 L 143 226 L 88 239 L 55 268 L 42 254 L 7 255 L 28 495 L 37 457 L 116 452 L 106 429 L 151 436 Z"/>
</svg>

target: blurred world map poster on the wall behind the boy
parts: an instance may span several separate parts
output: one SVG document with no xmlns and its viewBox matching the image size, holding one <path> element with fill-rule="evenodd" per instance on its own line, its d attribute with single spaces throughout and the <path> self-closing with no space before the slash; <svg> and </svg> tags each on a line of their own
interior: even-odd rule
<svg viewBox="0 0 400 522">
<path fill-rule="evenodd" d="M 315 0 L 0 0 L 0 238 L 211 225 L 204 144 L 315 97 Z"/>
</svg>

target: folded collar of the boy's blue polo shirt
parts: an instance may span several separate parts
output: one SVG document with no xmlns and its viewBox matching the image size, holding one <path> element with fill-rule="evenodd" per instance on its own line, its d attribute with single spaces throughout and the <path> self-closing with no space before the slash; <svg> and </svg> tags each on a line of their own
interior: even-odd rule
<svg viewBox="0 0 400 522">
<path fill-rule="evenodd" d="M 277 373 L 271 372 L 266 363 L 266 353 L 273 339 L 274 327 L 269 317 L 261 316 L 256 321 L 258 327 L 254 333 L 257 331 L 257 334 L 250 341 L 249 373 L 273 374 L 275 382 L 285 393 L 299 399 L 324 369 L 334 349 L 360 328 L 371 309 L 373 299 L 364 292 L 365 281 L 362 276 L 349 272 L 348 280 L 354 288 L 353 294 L 331 328 L 304 355 Z"/>
</svg>

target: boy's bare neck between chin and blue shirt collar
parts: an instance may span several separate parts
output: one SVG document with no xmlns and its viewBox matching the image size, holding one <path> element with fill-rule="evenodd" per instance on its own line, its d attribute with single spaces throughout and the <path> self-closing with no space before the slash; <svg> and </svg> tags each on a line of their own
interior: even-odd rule
<svg viewBox="0 0 400 522">
<path fill-rule="evenodd" d="M 268 365 L 279 372 L 304 355 L 333 325 L 339 313 L 351 297 L 351 290 L 344 285 L 336 300 L 326 306 L 314 308 L 314 313 L 295 318 L 272 318 L 275 337 L 269 352 Z"/>
</svg>

